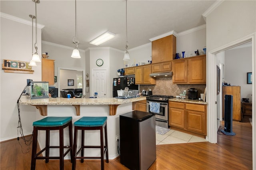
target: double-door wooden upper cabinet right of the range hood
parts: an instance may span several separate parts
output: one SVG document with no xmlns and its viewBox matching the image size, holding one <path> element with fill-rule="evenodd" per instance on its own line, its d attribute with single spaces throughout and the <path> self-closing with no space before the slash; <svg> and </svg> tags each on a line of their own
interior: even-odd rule
<svg viewBox="0 0 256 170">
<path fill-rule="evenodd" d="M 172 61 L 172 82 L 177 84 L 206 84 L 206 55 Z"/>
</svg>

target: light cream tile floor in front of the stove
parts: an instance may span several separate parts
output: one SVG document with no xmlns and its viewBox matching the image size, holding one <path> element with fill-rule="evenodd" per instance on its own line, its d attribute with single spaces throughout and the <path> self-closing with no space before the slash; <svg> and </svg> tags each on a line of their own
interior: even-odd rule
<svg viewBox="0 0 256 170">
<path fill-rule="evenodd" d="M 207 142 L 205 138 L 194 136 L 192 134 L 170 129 L 166 134 L 156 133 L 156 145 L 158 144 L 177 144 L 191 142 Z"/>
</svg>

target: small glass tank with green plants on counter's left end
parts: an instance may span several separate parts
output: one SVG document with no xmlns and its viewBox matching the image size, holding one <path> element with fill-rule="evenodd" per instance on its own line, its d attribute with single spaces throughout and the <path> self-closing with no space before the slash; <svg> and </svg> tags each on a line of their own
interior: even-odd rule
<svg viewBox="0 0 256 170">
<path fill-rule="evenodd" d="M 49 82 L 32 81 L 30 86 L 31 99 L 49 98 Z"/>
</svg>

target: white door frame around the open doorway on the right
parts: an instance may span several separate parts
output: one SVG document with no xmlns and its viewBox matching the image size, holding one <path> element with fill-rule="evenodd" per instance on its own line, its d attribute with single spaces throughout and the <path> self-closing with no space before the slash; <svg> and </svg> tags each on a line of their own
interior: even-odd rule
<svg viewBox="0 0 256 170">
<path fill-rule="evenodd" d="M 207 57 L 207 65 L 208 65 L 208 87 L 207 87 L 207 92 L 208 92 L 208 134 L 209 134 L 209 141 L 212 143 L 217 142 L 217 133 L 216 131 L 218 130 L 218 120 L 217 120 L 217 95 L 216 95 L 216 54 L 220 53 L 222 51 L 225 51 L 227 49 L 230 49 L 232 47 L 236 47 L 238 45 L 247 43 L 247 42 L 252 42 L 252 75 L 253 75 L 253 80 L 255 78 L 255 68 L 256 68 L 256 63 L 255 63 L 255 34 L 248 35 L 244 38 L 241 38 L 239 40 L 236 40 L 232 43 L 229 43 L 227 45 L 224 45 L 222 47 L 219 47 L 218 49 L 214 49 L 212 51 L 208 52 L 208 57 Z M 254 81 L 255 82 L 255 81 Z M 255 91 L 254 89 L 256 85 L 255 83 L 252 84 L 252 102 L 254 103 L 255 101 Z M 252 106 L 252 113 L 255 113 L 255 106 Z M 255 115 L 252 115 L 252 134 L 255 134 Z M 252 157 L 255 158 L 255 135 L 252 135 Z M 255 159 L 252 160 L 253 165 L 255 165 Z"/>
</svg>

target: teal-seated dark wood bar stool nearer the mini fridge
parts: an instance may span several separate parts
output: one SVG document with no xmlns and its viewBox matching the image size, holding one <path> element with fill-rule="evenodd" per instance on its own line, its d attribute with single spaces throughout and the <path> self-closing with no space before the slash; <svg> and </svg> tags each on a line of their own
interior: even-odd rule
<svg viewBox="0 0 256 170">
<path fill-rule="evenodd" d="M 105 134 L 105 146 L 103 144 L 103 128 Z M 81 147 L 76 152 L 77 148 L 77 132 L 82 130 Z M 84 130 L 100 130 L 100 146 L 84 145 Z M 100 148 L 100 156 L 84 156 L 84 148 Z M 105 150 L 104 150 L 105 148 Z M 77 156 L 81 151 L 81 156 Z M 82 117 L 74 123 L 74 145 L 73 145 L 73 163 L 72 170 L 76 169 L 76 159 L 101 159 L 101 169 L 104 170 L 104 154 L 106 153 L 106 162 L 108 163 L 108 138 L 107 138 L 107 117 Z"/>
</svg>

